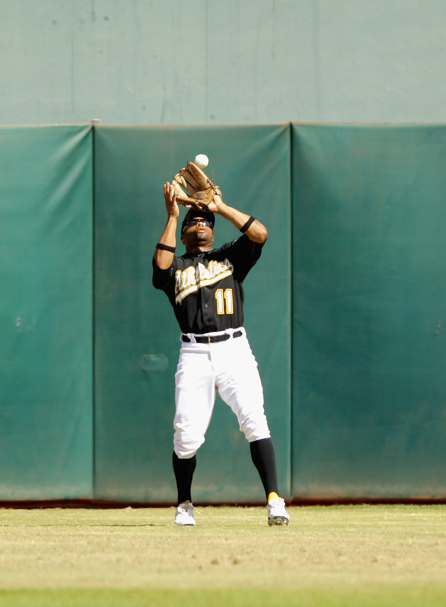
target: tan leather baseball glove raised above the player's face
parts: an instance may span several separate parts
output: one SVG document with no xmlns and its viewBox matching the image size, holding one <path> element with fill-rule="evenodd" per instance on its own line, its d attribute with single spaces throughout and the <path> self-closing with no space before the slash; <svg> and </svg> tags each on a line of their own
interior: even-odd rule
<svg viewBox="0 0 446 607">
<path fill-rule="evenodd" d="M 221 196 L 218 186 L 193 162 L 188 162 L 187 167 L 175 175 L 172 185 L 176 202 L 198 211 L 207 211 L 214 196 Z"/>
</svg>

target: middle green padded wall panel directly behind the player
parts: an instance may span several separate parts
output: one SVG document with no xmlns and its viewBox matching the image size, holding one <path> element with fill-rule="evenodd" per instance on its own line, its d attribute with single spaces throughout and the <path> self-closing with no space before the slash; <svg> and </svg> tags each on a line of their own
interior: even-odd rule
<svg viewBox="0 0 446 607">
<path fill-rule="evenodd" d="M 175 501 L 171 470 L 180 331 L 151 285 L 166 212 L 162 185 L 198 153 L 225 202 L 270 238 L 245 281 L 245 327 L 259 362 L 279 483 L 290 494 L 290 125 L 95 129 L 95 498 Z M 185 209 L 182 209 L 184 215 Z M 216 243 L 240 233 L 218 218 Z M 182 245 L 179 243 L 179 254 Z M 244 435 L 218 399 L 198 454 L 196 501 L 264 500 Z"/>
</svg>

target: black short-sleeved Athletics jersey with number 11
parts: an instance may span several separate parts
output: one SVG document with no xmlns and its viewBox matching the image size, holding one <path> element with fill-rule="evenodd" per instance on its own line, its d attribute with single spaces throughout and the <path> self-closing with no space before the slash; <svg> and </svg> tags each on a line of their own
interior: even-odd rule
<svg viewBox="0 0 446 607">
<path fill-rule="evenodd" d="M 242 327 L 243 281 L 262 246 L 244 234 L 219 249 L 174 257 L 167 270 L 153 260 L 153 286 L 167 294 L 183 333 Z"/>
</svg>

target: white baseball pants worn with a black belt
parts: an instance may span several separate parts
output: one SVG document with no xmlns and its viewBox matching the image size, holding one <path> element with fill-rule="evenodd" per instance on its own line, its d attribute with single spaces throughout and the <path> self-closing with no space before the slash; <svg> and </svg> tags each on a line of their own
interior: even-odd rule
<svg viewBox="0 0 446 607">
<path fill-rule="evenodd" d="M 241 337 L 232 337 L 242 331 Z M 257 362 L 243 327 L 207 335 L 231 335 L 216 344 L 198 344 L 193 333 L 182 342 L 175 375 L 175 435 L 179 458 L 191 458 L 204 443 L 217 391 L 236 414 L 240 430 L 250 443 L 269 438 L 263 408 L 263 389 Z"/>
</svg>

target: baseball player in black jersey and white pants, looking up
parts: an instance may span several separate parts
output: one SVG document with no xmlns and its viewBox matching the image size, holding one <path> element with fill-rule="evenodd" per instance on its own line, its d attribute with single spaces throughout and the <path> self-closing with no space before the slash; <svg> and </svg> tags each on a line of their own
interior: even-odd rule
<svg viewBox="0 0 446 607">
<path fill-rule="evenodd" d="M 243 327 L 243 281 L 261 255 L 267 229 L 215 195 L 206 212 L 190 209 L 185 215 L 181 241 L 186 253 L 176 257 L 179 208 L 170 183 L 164 186 L 164 198 L 168 219 L 153 257 L 153 285 L 167 294 L 182 331 L 175 375 L 175 524 L 195 525 L 191 484 L 196 452 L 204 443 L 217 391 L 236 414 L 250 443 L 265 489 L 268 524 L 288 524 L 285 502 L 278 495 L 257 362 Z M 215 214 L 242 232 L 238 240 L 218 249 L 213 248 Z"/>
</svg>

